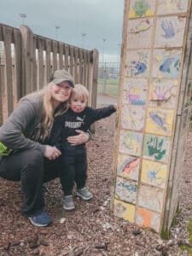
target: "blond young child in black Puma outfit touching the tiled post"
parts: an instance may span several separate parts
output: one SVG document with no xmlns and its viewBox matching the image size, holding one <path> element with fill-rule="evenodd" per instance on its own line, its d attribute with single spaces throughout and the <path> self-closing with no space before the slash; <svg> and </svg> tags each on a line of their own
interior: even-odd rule
<svg viewBox="0 0 192 256">
<path fill-rule="evenodd" d="M 85 188 L 87 178 L 87 157 L 85 143 L 73 146 L 67 142 L 67 137 L 77 134 L 77 130 L 88 131 L 96 120 L 108 117 L 116 111 L 111 105 L 108 108 L 93 109 L 87 107 L 89 92 L 82 84 L 76 84 L 72 91 L 70 108 L 58 116 L 51 134 L 51 143 L 61 150 L 63 171 L 64 202 L 66 210 L 73 210 L 73 183 L 77 185 L 77 195 L 84 201 L 93 195 Z M 61 182 L 61 183 L 62 183 Z"/>
</svg>

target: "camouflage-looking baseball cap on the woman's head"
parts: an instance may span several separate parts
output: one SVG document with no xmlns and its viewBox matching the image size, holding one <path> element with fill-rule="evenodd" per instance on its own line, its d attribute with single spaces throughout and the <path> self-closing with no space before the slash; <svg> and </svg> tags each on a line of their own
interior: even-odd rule
<svg viewBox="0 0 192 256">
<path fill-rule="evenodd" d="M 60 84 L 61 82 L 65 81 L 67 81 L 71 87 L 74 87 L 73 77 L 65 69 L 55 70 L 55 72 L 49 78 L 49 82 L 54 84 Z"/>
</svg>

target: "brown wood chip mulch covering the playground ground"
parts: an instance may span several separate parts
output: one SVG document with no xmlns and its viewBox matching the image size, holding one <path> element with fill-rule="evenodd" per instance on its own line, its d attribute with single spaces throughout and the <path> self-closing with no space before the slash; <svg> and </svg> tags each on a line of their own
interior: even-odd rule
<svg viewBox="0 0 192 256">
<path fill-rule="evenodd" d="M 170 240 L 138 228 L 110 211 L 110 184 L 114 158 L 115 114 L 96 123 L 96 134 L 88 143 L 89 178 L 94 194 L 89 202 L 74 196 L 75 210 L 62 208 L 59 180 L 48 184 L 46 207 L 54 223 L 47 228 L 32 226 L 20 215 L 20 183 L 0 179 L 0 256 L 120 256 L 189 255 L 179 249 L 189 244 L 187 226 L 192 218 L 192 131 L 189 131 L 177 214 Z"/>
</svg>

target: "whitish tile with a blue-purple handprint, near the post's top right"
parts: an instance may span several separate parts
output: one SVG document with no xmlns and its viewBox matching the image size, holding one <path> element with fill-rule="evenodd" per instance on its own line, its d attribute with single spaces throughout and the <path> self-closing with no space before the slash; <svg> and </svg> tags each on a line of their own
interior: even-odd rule
<svg viewBox="0 0 192 256">
<path fill-rule="evenodd" d="M 185 23 L 181 17 L 158 18 L 154 47 L 182 47 Z"/>
</svg>

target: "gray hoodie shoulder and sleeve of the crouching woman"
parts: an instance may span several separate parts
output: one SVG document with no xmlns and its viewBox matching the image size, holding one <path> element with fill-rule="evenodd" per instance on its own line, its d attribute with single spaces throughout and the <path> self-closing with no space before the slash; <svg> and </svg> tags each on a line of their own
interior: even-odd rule
<svg viewBox="0 0 192 256">
<path fill-rule="evenodd" d="M 26 97 L 0 127 L 0 142 L 13 150 L 36 148 L 44 154 L 38 138 L 43 120 L 43 96 Z"/>
</svg>

